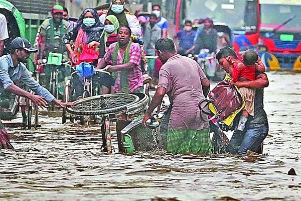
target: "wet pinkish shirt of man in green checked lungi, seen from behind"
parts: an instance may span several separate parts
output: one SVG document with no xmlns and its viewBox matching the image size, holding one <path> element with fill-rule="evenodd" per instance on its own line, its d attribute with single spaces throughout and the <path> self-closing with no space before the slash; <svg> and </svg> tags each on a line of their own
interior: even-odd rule
<svg viewBox="0 0 301 201">
<path fill-rule="evenodd" d="M 158 87 L 165 87 L 173 109 L 172 129 L 202 130 L 209 127 L 200 118 L 198 104 L 205 99 L 201 80 L 207 78 L 196 61 L 181 55 L 171 57 L 160 69 Z M 189 112 L 184 112 L 189 111 Z"/>
</svg>

